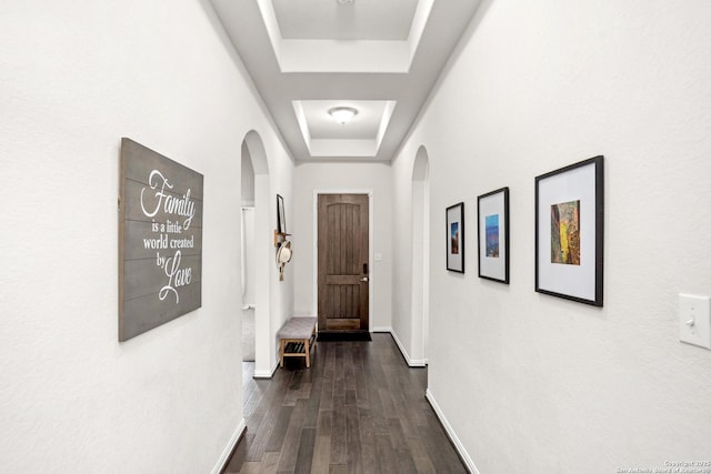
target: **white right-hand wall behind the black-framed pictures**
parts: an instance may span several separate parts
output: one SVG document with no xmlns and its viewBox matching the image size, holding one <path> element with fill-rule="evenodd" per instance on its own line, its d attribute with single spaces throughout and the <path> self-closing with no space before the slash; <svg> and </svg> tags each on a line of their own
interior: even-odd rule
<svg viewBox="0 0 711 474">
<path fill-rule="evenodd" d="M 429 391 L 479 472 L 709 458 L 711 351 L 678 341 L 677 305 L 711 294 L 710 57 L 709 2 L 488 1 L 399 153 L 397 216 L 429 154 Z M 534 177 L 597 154 L 603 309 L 533 291 Z M 477 276 L 471 224 L 477 196 L 504 185 L 510 285 Z M 442 241 L 459 201 L 464 275 Z M 408 265 L 397 254 L 393 273 Z"/>
</svg>

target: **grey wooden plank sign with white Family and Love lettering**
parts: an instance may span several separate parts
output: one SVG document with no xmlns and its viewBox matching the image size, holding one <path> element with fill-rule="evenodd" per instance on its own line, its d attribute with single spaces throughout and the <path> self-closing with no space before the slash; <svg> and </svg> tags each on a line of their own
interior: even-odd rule
<svg viewBox="0 0 711 474">
<path fill-rule="evenodd" d="M 202 305 L 202 174 L 121 140 L 119 341 Z"/>
</svg>

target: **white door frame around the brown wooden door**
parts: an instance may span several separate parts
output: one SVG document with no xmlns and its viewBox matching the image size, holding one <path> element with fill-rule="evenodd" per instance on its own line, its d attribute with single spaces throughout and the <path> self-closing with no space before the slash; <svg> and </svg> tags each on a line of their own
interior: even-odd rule
<svg viewBox="0 0 711 474">
<path fill-rule="evenodd" d="M 319 194 L 368 194 L 368 332 L 373 331 L 373 190 L 372 189 L 324 189 L 313 190 L 313 315 L 319 316 Z"/>
</svg>

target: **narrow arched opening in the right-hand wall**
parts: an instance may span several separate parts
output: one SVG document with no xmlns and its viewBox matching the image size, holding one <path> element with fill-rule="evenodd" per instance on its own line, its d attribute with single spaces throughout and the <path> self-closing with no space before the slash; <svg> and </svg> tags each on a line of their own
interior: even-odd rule
<svg viewBox="0 0 711 474">
<path fill-rule="evenodd" d="M 411 262 L 411 357 L 413 362 L 424 365 L 430 327 L 430 190 L 429 158 L 424 147 L 418 149 L 412 167 Z"/>
</svg>

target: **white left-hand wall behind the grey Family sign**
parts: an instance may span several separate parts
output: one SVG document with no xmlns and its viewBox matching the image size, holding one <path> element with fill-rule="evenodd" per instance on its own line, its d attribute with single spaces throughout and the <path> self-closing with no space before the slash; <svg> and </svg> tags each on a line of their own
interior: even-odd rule
<svg viewBox="0 0 711 474">
<path fill-rule="evenodd" d="M 0 7 L 2 472 L 204 473 L 239 434 L 246 133 L 293 167 L 207 6 Z M 204 174 L 202 307 L 126 343 L 121 137 Z"/>
</svg>

